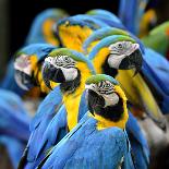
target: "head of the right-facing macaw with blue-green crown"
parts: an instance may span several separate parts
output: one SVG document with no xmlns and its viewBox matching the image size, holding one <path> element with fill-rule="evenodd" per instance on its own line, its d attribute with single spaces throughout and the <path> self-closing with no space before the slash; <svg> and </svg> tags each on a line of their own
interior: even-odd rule
<svg viewBox="0 0 169 169">
<path fill-rule="evenodd" d="M 104 38 L 93 48 L 88 57 L 97 73 L 112 76 L 114 70 L 135 69 L 136 73 L 141 70 L 143 61 L 140 45 L 124 35 Z"/>
</svg>

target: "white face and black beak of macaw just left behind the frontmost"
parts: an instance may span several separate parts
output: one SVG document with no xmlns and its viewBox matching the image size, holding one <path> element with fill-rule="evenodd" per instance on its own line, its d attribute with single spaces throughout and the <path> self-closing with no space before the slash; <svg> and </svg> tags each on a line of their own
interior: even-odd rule
<svg viewBox="0 0 169 169">
<path fill-rule="evenodd" d="M 73 82 L 79 75 L 76 61 L 69 56 L 56 56 L 45 59 L 43 77 L 50 89 L 52 89 L 51 83 Z"/>
</svg>

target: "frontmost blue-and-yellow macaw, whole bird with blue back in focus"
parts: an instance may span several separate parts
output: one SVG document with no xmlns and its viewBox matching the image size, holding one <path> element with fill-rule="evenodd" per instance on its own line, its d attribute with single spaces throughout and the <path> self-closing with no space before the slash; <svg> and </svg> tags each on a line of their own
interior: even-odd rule
<svg viewBox="0 0 169 169">
<path fill-rule="evenodd" d="M 88 77 L 85 88 L 89 112 L 48 153 L 38 169 L 134 169 L 123 90 L 105 74 Z"/>
</svg>

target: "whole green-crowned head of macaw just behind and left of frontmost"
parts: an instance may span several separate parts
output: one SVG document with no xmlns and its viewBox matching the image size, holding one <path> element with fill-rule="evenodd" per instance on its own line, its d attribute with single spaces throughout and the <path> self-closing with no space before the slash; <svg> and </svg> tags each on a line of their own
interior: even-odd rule
<svg viewBox="0 0 169 169">
<path fill-rule="evenodd" d="M 43 77 L 49 88 L 61 84 L 63 92 L 74 92 L 85 79 L 94 74 L 92 62 L 82 53 L 60 48 L 49 53 L 43 67 Z"/>
</svg>

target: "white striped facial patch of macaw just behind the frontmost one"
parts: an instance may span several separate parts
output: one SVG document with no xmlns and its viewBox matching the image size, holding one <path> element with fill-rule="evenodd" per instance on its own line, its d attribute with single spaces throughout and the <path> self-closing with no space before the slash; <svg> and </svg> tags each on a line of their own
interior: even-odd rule
<svg viewBox="0 0 169 169">
<path fill-rule="evenodd" d="M 75 61 L 69 56 L 58 56 L 56 58 L 48 57 L 45 62 L 49 62 L 57 69 L 61 69 L 65 81 L 73 81 L 77 77 L 77 69 L 75 68 Z"/>
</svg>

